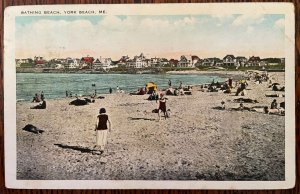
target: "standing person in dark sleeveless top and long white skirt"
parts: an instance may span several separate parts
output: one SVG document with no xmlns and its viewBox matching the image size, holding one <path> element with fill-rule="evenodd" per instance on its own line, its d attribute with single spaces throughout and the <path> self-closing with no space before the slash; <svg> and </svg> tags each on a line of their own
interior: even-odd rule
<svg viewBox="0 0 300 194">
<path fill-rule="evenodd" d="M 107 127 L 107 123 L 109 126 Z M 106 114 L 105 108 L 100 108 L 99 115 L 97 116 L 96 123 L 96 145 L 94 148 L 99 147 L 100 151 L 103 152 L 107 143 L 107 130 L 111 132 L 111 122 Z"/>
</svg>

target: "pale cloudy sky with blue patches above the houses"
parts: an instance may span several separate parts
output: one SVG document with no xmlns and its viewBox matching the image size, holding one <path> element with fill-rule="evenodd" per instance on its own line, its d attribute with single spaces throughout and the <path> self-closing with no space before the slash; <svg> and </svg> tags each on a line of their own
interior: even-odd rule
<svg viewBox="0 0 300 194">
<path fill-rule="evenodd" d="M 16 57 L 284 57 L 284 15 L 22 16 Z"/>
</svg>

